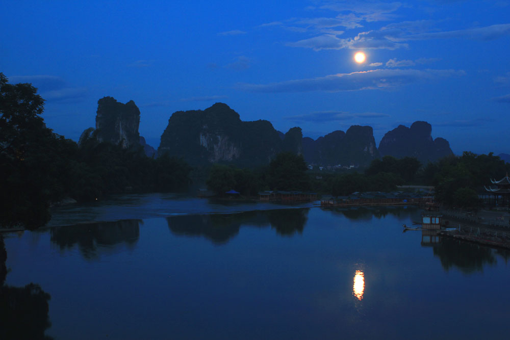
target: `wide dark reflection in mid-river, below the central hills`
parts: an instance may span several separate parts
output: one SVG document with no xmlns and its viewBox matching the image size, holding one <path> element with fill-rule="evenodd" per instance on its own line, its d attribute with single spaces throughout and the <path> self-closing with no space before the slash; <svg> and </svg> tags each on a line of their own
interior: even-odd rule
<svg viewBox="0 0 510 340">
<path fill-rule="evenodd" d="M 191 215 L 168 217 L 168 228 L 179 236 L 203 236 L 215 244 L 224 244 L 239 233 L 244 225 L 271 226 L 282 236 L 301 233 L 309 209 L 251 211 L 238 214 Z"/>
</svg>

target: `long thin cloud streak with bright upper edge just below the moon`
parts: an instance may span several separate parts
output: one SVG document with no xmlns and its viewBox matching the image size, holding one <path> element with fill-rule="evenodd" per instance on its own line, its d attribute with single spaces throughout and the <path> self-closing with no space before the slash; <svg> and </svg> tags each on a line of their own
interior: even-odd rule
<svg viewBox="0 0 510 340">
<path fill-rule="evenodd" d="M 462 70 L 376 69 L 272 84 L 238 84 L 237 87 L 244 91 L 259 93 L 357 91 L 392 88 L 423 80 L 464 74 L 465 72 Z"/>
</svg>

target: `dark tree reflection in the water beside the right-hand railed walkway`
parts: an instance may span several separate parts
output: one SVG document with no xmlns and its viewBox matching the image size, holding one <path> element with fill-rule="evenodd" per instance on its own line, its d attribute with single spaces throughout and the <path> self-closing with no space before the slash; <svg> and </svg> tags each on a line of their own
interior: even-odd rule
<svg viewBox="0 0 510 340">
<path fill-rule="evenodd" d="M 444 238 L 441 243 L 433 246 L 434 256 L 441 260 L 443 269 L 448 271 L 457 267 L 463 273 L 482 271 L 485 265 L 496 264 L 493 250 L 475 243 Z"/>
</svg>

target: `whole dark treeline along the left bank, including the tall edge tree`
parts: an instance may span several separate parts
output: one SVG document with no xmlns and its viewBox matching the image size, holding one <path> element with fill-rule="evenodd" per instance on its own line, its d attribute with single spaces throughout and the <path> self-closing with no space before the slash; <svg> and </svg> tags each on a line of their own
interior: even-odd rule
<svg viewBox="0 0 510 340">
<path fill-rule="evenodd" d="M 31 84 L 9 84 L 0 73 L 0 223 L 37 228 L 50 204 L 70 197 L 92 201 L 126 191 L 174 191 L 186 187 L 191 168 L 143 148 L 89 139 L 83 145 L 59 136 L 40 116 L 44 100 Z"/>
</svg>

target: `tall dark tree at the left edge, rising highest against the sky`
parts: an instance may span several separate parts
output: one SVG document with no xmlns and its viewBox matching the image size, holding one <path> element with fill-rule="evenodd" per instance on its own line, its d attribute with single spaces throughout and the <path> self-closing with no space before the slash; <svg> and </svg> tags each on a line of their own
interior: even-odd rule
<svg viewBox="0 0 510 340">
<path fill-rule="evenodd" d="M 6 198 L 0 211 L 6 226 L 36 228 L 49 220 L 60 140 L 40 117 L 43 109 L 35 87 L 8 84 L 0 73 L 0 187 Z"/>
</svg>

